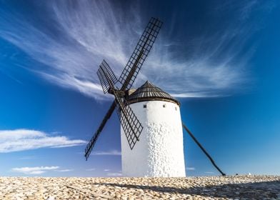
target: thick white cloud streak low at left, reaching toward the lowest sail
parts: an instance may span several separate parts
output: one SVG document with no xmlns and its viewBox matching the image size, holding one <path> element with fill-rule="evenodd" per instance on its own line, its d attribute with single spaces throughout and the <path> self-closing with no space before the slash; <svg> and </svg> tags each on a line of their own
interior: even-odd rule
<svg viewBox="0 0 280 200">
<path fill-rule="evenodd" d="M 0 130 L 0 153 L 39 148 L 62 148 L 86 144 L 83 140 L 71 140 L 66 136 L 51 136 L 42 131 L 28 129 Z"/>
</svg>

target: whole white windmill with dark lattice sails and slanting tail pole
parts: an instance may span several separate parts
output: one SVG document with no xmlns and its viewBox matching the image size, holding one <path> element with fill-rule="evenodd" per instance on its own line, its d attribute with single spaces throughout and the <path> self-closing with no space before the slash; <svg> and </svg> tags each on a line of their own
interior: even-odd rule
<svg viewBox="0 0 280 200">
<path fill-rule="evenodd" d="M 179 101 L 149 81 L 131 91 L 161 25 L 159 19 L 151 18 L 119 79 L 105 60 L 97 71 L 104 94 L 112 94 L 115 99 L 86 146 L 85 157 L 89 158 L 106 121 L 116 109 L 121 122 L 121 161 L 125 176 L 186 176 Z M 183 127 L 214 164 L 189 129 L 184 124 Z"/>
</svg>

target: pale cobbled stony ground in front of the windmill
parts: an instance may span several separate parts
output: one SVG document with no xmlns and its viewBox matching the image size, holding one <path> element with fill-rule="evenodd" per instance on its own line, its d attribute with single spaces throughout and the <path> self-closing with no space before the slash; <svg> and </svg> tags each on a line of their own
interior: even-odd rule
<svg viewBox="0 0 280 200">
<path fill-rule="evenodd" d="M 280 199 L 280 176 L 2 177 L 0 199 Z"/>
</svg>

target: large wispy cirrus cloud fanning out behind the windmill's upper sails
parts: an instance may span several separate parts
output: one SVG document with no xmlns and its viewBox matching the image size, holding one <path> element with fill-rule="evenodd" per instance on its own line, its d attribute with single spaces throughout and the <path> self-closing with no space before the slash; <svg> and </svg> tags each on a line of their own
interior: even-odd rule
<svg viewBox="0 0 280 200">
<path fill-rule="evenodd" d="M 113 1 L 44 4 L 44 17 L 39 16 L 37 21 L 17 11 L 0 9 L 0 37 L 41 63 L 18 65 L 51 83 L 106 99 L 96 69 L 105 58 L 115 73 L 121 74 L 147 22 L 141 17 L 139 1 L 126 11 Z M 209 11 L 212 29 L 180 28 L 175 24 L 178 16 L 171 16 L 174 23 L 164 24 L 135 86 L 149 79 L 177 97 L 228 96 L 246 90 L 252 81 L 248 65 L 255 48 L 248 47 L 248 41 L 256 31 L 249 24 L 257 26 L 249 19 L 254 11 L 271 9 L 266 6 L 271 1 L 228 4 L 219 4 L 219 12 Z M 234 12 L 232 18 L 219 21 L 218 16 L 227 14 L 229 8 Z M 47 26 L 41 25 L 44 23 Z M 189 29 L 196 34 L 180 36 L 188 35 Z"/>
</svg>

